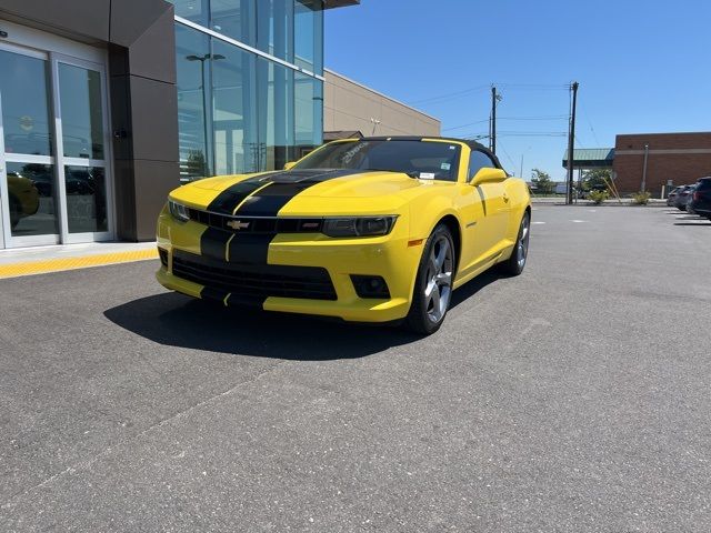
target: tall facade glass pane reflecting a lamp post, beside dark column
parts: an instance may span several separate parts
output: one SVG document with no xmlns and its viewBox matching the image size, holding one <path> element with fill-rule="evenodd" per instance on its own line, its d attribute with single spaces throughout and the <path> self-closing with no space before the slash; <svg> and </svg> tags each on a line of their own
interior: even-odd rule
<svg viewBox="0 0 711 533">
<path fill-rule="evenodd" d="M 180 180 L 211 175 L 208 122 L 210 43 L 204 33 L 176 24 L 176 63 L 178 68 L 178 131 Z"/>
</svg>

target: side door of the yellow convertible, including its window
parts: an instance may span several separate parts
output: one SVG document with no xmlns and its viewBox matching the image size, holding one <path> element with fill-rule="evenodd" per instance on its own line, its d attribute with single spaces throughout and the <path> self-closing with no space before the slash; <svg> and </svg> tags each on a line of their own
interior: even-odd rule
<svg viewBox="0 0 711 533">
<path fill-rule="evenodd" d="M 503 181 L 472 187 L 471 180 L 482 168 L 500 168 L 485 152 L 472 150 L 467 173 L 469 192 L 461 197 L 463 217 L 460 273 L 468 273 L 491 262 L 505 247 L 509 224 L 509 198 Z"/>
</svg>

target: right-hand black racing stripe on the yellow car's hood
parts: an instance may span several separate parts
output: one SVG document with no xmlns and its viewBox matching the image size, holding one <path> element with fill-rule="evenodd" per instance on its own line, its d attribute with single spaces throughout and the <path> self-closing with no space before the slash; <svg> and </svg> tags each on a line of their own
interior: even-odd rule
<svg viewBox="0 0 711 533">
<path fill-rule="evenodd" d="M 308 172 L 313 172 L 308 175 Z M 347 175 L 362 174 L 368 170 L 329 170 L 329 171 L 300 171 L 283 172 L 270 177 L 271 184 L 249 197 L 244 204 L 236 213 L 243 217 L 277 217 L 279 211 L 296 195 L 307 189 L 323 183 L 324 181 L 344 178 Z"/>
</svg>

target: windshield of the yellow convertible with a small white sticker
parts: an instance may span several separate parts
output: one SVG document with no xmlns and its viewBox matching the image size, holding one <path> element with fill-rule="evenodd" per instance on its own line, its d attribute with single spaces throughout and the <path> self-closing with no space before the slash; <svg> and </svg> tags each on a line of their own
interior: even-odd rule
<svg viewBox="0 0 711 533">
<path fill-rule="evenodd" d="M 404 172 L 421 180 L 457 181 L 461 147 L 415 140 L 348 141 L 328 144 L 294 169 L 356 169 Z"/>
</svg>

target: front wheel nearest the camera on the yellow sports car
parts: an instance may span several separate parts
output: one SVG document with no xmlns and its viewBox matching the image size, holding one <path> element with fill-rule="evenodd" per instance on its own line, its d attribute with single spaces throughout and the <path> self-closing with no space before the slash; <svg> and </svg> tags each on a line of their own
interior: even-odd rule
<svg viewBox="0 0 711 533">
<path fill-rule="evenodd" d="M 439 258 L 439 254 L 442 254 L 443 259 L 442 266 L 437 270 L 438 261 L 432 258 Z M 421 335 L 431 335 L 440 329 L 452 301 L 455 269 L 457 250 L 452 233 L 447 224 L 441 223 L 434 228 L 427 240 L 422 258 L 420 258 L 412 304 L 404 321 L 404 326 L 408 330 Z M 427 294 L 428 289 L 430 295 Z M 437 291 L 435 296 L 434 291 Z"/>
</svg>

